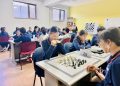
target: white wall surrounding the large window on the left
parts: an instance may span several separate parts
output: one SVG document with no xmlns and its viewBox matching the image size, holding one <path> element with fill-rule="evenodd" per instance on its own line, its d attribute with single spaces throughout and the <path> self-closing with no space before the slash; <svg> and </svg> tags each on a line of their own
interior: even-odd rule
<svg viewBox="0 0 120 86">
<path fill-rule="evenodd" d="M 15 27 L 51 27 L 52 25 L 63 28 L 66 26 L 65 22 L 53 22 L 51 16 L 51 9 L 43 6 L 39 0 L 16 0 L 37 5 L 37 19 L 16 19 L 13 16 L 13 0 L 0 0 L 0 27 L 5 26 L 6 30 L 12 34 Z M 66 11 L 68 8 L 64 8 Z"/>
</svg>

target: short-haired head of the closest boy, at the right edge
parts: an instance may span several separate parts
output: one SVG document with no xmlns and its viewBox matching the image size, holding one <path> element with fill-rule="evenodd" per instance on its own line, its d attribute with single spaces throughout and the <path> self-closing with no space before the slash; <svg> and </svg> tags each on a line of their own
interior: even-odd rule
<svg viewBox="0 0 120 86">
<path fill-rule="evenodd" d="M 112 52 L 115 48 L 120 48 L 120 28 L 109 28 L 103 31 L 99 38 L 99 45 L 106 53 Z"/>
</svg>

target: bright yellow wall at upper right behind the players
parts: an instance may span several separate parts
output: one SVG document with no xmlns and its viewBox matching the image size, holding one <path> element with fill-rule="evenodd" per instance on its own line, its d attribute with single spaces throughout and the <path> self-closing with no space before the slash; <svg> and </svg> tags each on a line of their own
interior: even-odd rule
<svg viewBox="0 0 120 86">
<path fill-rule="evenodd" d="M 120 0 L 96 0 L 96 2 L 81 4 L 70 8 L 70 16 L 76 18 L 76 24 L 84 29 L 86 22 L 105 24 L 107 18 L 120 17 Z"/>
</svg>

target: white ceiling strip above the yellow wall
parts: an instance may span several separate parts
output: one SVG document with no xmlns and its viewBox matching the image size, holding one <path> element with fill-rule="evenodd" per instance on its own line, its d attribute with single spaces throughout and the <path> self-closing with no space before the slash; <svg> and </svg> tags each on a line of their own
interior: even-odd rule
<svg viewBox="0 0 120 86">
<path fill-rule="evenodd" d="M 64 5 L 77 6 L 80 4 L 93 3 L 98 0 L 40 0 L 45 6 Z"/>
</svg>

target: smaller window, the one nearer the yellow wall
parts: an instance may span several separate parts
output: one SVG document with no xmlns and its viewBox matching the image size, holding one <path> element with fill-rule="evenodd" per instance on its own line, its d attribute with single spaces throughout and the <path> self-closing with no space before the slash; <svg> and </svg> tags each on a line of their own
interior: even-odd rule
<svg viewBox="0 0 120 86">
<path fill-rule="evenodd" d="M 64 21 L 65 10 L 53 8 L 53 21 Z"/>
</svg>

